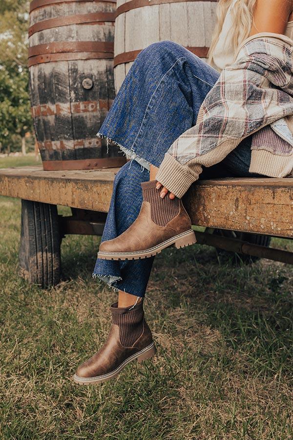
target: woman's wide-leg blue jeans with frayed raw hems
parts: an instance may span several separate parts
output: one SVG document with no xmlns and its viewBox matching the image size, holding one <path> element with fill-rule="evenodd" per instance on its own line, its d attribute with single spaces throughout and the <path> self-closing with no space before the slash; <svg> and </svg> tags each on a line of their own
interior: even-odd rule
<svg viewBox="0 0 293 440">
<path fill-rule="evenodd" d="M 171 41 L 150 44 L 139 53 L 99 131 L 134 159 L 115 177 L 102 242 L 122 234 L 137 218 L 149 164 L 159 167 L 174 140 L 195 125 L 218 77 L 218 71 Z M 222 162 L 204 168 L 200 178 L 253 176 L 250 147 L 251 136 Z M 93 276 L 143 297 L 153 261 L 153 257 L 125 262 L 97 259 Z"/>
</svg>

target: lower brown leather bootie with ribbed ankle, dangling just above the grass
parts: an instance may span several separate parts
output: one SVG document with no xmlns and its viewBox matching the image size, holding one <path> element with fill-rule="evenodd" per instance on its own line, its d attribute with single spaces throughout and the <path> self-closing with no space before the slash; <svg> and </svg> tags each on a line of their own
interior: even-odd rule
<svg viewBox="0 0 293 440">
<path fill-rule="evenodd" d="M 142 362 L 153 356 L 156 348 L 144 318 L 143 301 L 131 308 L 111 305 L 112 324 L 103 347 L 80 365 L 73 376 L 76 383 L 105 382 L 117 376 L 132 360 Z"/>
</svg>

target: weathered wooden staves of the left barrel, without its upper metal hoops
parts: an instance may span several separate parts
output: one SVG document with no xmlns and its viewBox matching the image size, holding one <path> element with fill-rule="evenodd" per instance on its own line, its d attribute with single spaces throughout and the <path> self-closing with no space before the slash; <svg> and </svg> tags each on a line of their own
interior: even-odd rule
<svg viewBox="0 0 293 440">
<path fill-rule="evenodd" d="M 34 9 L 30 25 L 73 15 L 114 13 L 115 9 L 115 3 L 105 1 L 57 3 Z M 113 46 L 113 24 L 79 23 L 41 30 L 29 38 L 29 47 L 32 51 L 36 47 L 49 50 L 50 44 Z M 84 80 L 91 86 L 84 87 Z M 94 141 L 115 98 L 113 59 L 71 59 L 30 66 L 29 92 L 43 161 L 121 157 L 117 147 L 107 149 L 105 139 Z"/>
</svg>

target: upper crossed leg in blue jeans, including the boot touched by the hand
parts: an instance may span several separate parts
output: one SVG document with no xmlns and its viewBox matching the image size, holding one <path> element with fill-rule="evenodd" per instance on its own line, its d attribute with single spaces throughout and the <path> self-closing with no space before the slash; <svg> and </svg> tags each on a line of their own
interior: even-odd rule
<svg viewBox="0 0 293 440">
<path fill-rule="evenodd" d="M 198 110 L 218 77 L 219 72 L 179 44 L 151 44 L 129 70 L 111 107 L 113 112 L 109 111 L 98 135 L 115 141 L 142 165 L 158 167 L 174 140 L 195 124 Z M 150 179 L 154 173 L 151 168 Z M 158 202 L 153 183 L 144 192 L 146 204 L 127 238 L 103 241 L 98 254 L 101 259 L 147 258 L 172 242 L 177 247 L 194 242 L 182 202 L 170 203 L 167 198 Z M 160 210 L 158 221 L 153 218 L 154 210 Z M 147 234 L 145 225 L 152 220 L 152 234 Z"/>
</svg>

